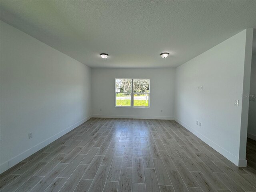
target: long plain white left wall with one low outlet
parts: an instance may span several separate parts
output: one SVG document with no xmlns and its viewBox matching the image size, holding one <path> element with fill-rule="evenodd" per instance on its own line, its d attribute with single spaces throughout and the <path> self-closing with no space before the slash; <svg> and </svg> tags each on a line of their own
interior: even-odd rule
<svg viewBox="0 0 256 192">
<path fill-rule="evenodd" d="M 90 68 L 1 21 L 1 172 L 90 115 Z"/>
</svg>

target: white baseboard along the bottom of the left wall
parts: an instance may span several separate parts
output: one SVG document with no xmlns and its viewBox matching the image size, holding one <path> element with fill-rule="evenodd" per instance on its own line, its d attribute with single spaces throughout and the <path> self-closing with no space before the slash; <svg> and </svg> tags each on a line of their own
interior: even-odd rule
<svg viewBox="0 0 256 192">
<path fill-rule="evenodd" d="M 60 138 L 61 136 L 63 136 L 64 134 L 70 132 L 72 129 L 76 128 L 77 126 L 81 125 L 82 123 L 86 122 L 87 120 L 89 120 L 91 118 L 91 116 L 88 116 L 78 122 L 76 122 L 75 124 L 73 124 L 72 126 L 69 126 L 68 128 L 62 130 L 61 132 L 55 134 L 54 136 L 51 136 L 50 138 L 44 140 L 43 142 L 40 142 L 39 144 L 36 144 L 35 146 L 33 146 L 32 148 L 29 148 L 28 150 L 18 154 L 17 156 L 15 156 L 14 158 L 2 163 L 0 165 L 0 173 L 8 170 L 9 168 L 11 168 L 12 166 L 16 165 L 17 163 L 21 162 L 22 160 L 24 160 L 25 158 L 29 157 L 30 155 L 34 154 L 35 152 L 37 152 L 38 150 L 44 148 L 45 146 L 47 146 L 48 144 L 50 144 L 51 142 L 55 141 L 56 139 Z"/>
</svg>

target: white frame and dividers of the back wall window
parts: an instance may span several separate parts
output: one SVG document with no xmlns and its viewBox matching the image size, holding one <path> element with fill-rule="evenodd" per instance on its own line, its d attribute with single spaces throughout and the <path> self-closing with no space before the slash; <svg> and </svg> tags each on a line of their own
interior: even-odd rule
<svg viewBox="0 0 256 192">
<path fill-rule="evenodd" d="M 131 94 L 131 104 L 130 106 L 117 106 L 116 105 L 116 80 L 117 79 L 130 79 L 132 80 L 132 92 L 123 92 L 124 94 Z M 149 92 L 148 93 L 135 93 L 133 92 L 133 80 L 138 79 L 138 80 L 143 80 L 143 79 L 148 79 L 149 80 Z M 134 94 L 148 94 L 148 106 L 134 106 Z M 115 78 L 115 107 L 128 107 L 128 108 L 150 108 L 150 79 L 149 78 Z"/>
</svg>

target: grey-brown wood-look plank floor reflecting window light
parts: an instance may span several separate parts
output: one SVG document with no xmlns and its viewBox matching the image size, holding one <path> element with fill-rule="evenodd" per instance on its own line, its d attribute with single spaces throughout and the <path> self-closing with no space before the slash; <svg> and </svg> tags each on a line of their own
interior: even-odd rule
<svg viewBox="0 0 256 192">
<path fill-rule="evenodd" d="M 91 118 L 1 174 L 1 192 L 256 191 L 256 142 L 238 168 L 173 120 Z"/>
</svg>

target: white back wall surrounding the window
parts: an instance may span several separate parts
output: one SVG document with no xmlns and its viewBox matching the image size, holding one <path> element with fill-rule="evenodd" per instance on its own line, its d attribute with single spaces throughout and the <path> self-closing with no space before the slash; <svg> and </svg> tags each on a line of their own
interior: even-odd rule
<svg viewBox="0 0 256 192">
<path fill-rule="evenodd" d="M 154 118 L 174 117 L 175 69 L 92 69 L 92 114 L 94 117 Z M 115 107 L 115 78 L 149 78 L 150 108 Z M 100 108 L 102 111 L 100 111 Z M 163 112 L 160 112 L 163 110 Z"/>
</svg>

